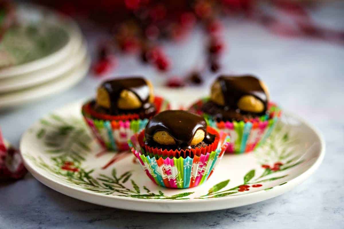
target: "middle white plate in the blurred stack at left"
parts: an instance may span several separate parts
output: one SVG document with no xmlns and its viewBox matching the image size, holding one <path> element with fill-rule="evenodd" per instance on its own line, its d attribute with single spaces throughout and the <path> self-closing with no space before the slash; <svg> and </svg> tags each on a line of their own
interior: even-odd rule
<svg viewBox="0 0 344 229">
<path fill-rule="evenodd" d="M 70 71 L 73 67 L 79 65 L 87 54 L 87 48 L 82 45 L 80 41 L 77 46 L 73 47 L 69 58 L 58 62 L 57 64 L 26 73 L 23 76 L 9 77 L 0 79 L 0 93 L 16 91 L 19 89 L 29 88 L 33 85 L 44 83 L 62 76 L 64 73 Z"/>
</svg>

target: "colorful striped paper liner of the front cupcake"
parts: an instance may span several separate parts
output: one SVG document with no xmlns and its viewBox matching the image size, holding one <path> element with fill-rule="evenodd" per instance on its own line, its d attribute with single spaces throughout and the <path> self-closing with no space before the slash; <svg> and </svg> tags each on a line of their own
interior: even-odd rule
<svg viewBox="0 0 344 229">
<path fill-rule="evenodd" d="M 131 137 L 128 144 L 140 161 L 142 169 L 157 185 L 168 188 L 190 188 L 209 179 L 229 144 L 229 136 L 219 133 L 219 142 L 214 151 L 191 157 L 150 156 L 140 146 L 139 134 Z"/>
</svg>

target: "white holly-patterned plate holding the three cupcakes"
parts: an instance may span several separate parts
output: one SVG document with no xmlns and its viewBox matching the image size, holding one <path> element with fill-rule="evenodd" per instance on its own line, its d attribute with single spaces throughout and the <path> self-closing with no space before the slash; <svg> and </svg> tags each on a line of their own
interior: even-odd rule
<svg viewBox="0 0 344 229">
<path fill-rule="evenodd" d="M 175 98 L 181 102 L 186 96 L 176 94 Z M 325 154 L 319 131 L 286 113 L 267 144 L 254 153 L 225 155 L 203 185 L 182 190 L 163 188 L 151 182 L 131 153 L 101 152 L 85 129 L 81 105 L 66 105 L 36 122 L 24 133 L 20 149 L 26 168 L 37 180 L 99 205 L 182 213 L 252 204 L 299 185 L 319 167 Z M 117 161 L 104 168 L 114 157 Z M 276 162 L 283 163 L 278 171 L 262 168 L 263 164 L 273 167 Z M 249 190 L 238 192 L 236 187 L 244 181 Z M 213 193 L 209 194 L 211 188 Z"/>
</svg>

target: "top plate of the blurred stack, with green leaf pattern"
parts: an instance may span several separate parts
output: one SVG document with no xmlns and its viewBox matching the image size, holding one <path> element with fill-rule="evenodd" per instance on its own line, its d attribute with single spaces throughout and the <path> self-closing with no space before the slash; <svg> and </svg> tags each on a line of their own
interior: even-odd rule
<svg viewBox="0 0 344 229">
<path fill-rule="evenodd" d="M 76 23 L 43 7 L 20 4 L 17 21 L 0 41 L 0 79 L 47 68 L 65 59 L 80 34 Z"/>
</svg>

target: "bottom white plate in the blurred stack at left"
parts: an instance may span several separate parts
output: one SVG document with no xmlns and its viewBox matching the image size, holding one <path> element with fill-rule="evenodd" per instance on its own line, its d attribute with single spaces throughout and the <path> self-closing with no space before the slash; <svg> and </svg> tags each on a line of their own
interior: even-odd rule
<svg viewBox="0 0 344 229">
<path fill-rule="evenodd" d="M 90 59 L 86 56 L 81 64 L 75 66 L 70 72 L 37 87 L 15 91 L 0 95 L 0 107 L 10 107 L 43 98 L 72 87 L 86 76 L 90 66 Z"/>
</svg>

